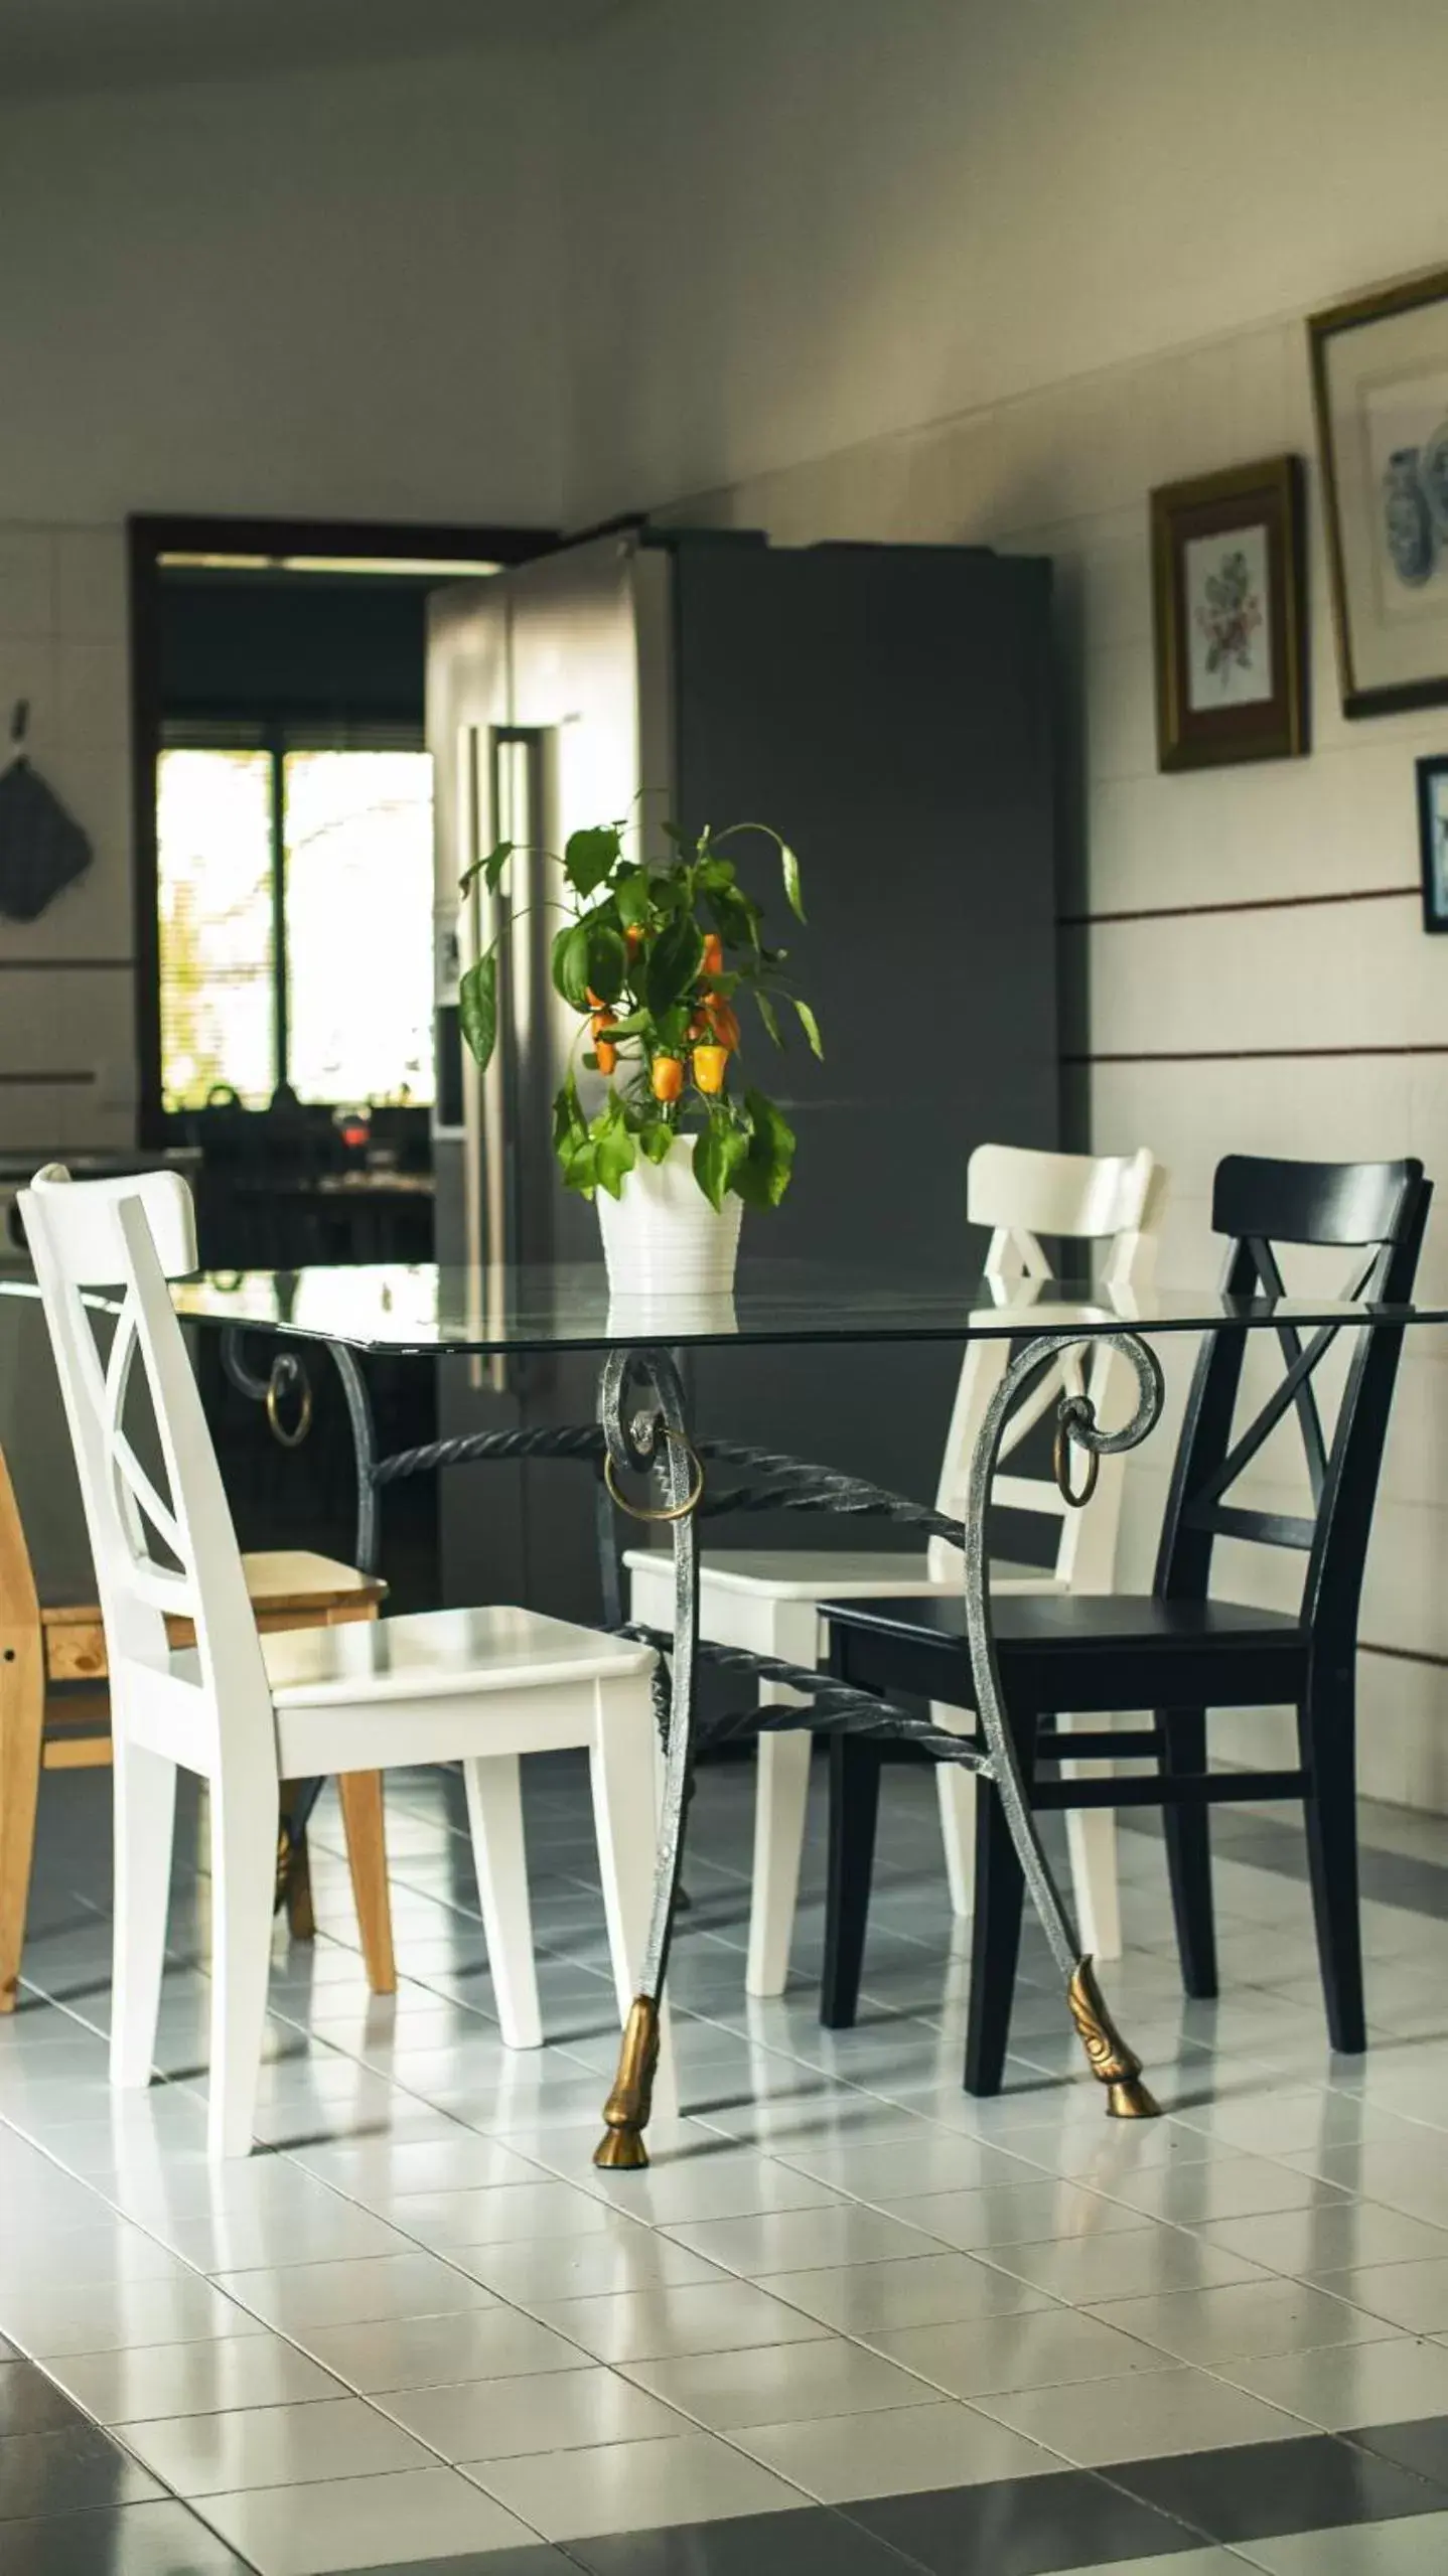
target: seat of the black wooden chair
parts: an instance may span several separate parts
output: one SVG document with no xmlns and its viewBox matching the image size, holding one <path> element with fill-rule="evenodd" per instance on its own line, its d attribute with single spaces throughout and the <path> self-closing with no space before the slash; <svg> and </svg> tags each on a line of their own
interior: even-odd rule
<svg viewBox="0 0 1448 2576">
<path fill-rule="evenodd" d="M 822 1602 L 863 1690 L 974 1708 L 964 1600 Z M 1136 1592 L 1015 1595 L 992 1610 L 1007 1705 L 1056 1710 L 1283 1705 L 1306 1687 L 1309 1636 L 1281 1610 Z"/>
</svg>

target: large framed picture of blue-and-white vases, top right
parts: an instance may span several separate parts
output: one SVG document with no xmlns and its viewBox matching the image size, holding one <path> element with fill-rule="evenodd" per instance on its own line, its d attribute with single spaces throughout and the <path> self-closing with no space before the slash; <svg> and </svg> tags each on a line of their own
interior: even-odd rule
<svg viewBox="0 0 1448 2576">
<path fill-rule="evenodd" d="M 1342 714 L 1448 703 L 1448 268 L 1306 325 Z"/>
</svg>

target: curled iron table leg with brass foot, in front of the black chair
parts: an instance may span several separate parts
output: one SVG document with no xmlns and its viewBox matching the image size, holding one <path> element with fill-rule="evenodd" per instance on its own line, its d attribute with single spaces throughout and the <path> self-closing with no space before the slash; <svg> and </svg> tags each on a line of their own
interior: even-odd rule
<svg viewBox="0 0 1448 2576">
<path fill-rule="evenodd" d="M 1159 2115 L 1159 2105 L 1141 2081 L 1141 2058 L 1126 2045 L 1110 2017 L 1095 1978 L 1095 1965 L 1082 1953 L 1077 1924 L 1056 1886 L 1051 1862 L 1041 1850 L 1041 1837 L 1031 1814 L 1031 1793 L 1020 1777 L 1015 1741 L 1005 1721 L 1000 1659 L 989 1618 L 987 1512 L 1000 1440 L 1023 1386 L 1041 1370 L 1043 1363 L 1056 1360 L 1064 1350 L 1072 1350 L 1082 1340 L 1087 1337 L 1080 1332 L 1054 1332 L 1033 1340 L 1010 1363 L 987 1406 L 971 1458 L 964 1510 L 966 1641 L 971 1654 L 976 1713 L 989 1752 L 989 1772 L 1005 1808 L 1005 1821 L 1010 1826 L 1010 1839 L 1015 1842 L 1031 1901 L 1041 1917 L 1051 1955 L 1067 1984 L 1067 2004 L 1087 2053 L 1087 2066 L 1092 2076 L 1105 2084 L 1108 2117 L 1154 2120 Z M 1056 1476 L 1067 1504 L 1085 1502 L 1090 1497 L 1095 1484 L 1095 1461 L 1100 1455 L 1136 1448 L 1162 1412 L 1162 1370 L 1157 1355 L 1131 1332 L 1095 1334 L 1090 1340 L 1105 1340 L 1110 1350 L 1118 1350 L 1131 1363 L 1136 1378 L 1136 1412 L 1123 1430 L 1103 1432 L 1087 1396 L 1062 1399 L 1056 1414 Z M 1069 1445 L 1082 1448 L 1090 1461 L 1090 1473 L 1080 1497 L 1072 1497 L 1069 1492 Z"/>
</svg>

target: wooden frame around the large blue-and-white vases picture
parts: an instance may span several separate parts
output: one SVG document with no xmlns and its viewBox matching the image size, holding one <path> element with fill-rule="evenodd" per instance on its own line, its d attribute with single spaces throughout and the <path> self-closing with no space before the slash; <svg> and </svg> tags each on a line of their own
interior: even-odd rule
<svg viewBox="0 0 1448 2576">
<path fill-rule="evenodd" d="M 1311 361 L 1311 410 L 1317 422 L 1317 456 L 1322 466 L 1322 515 L 1327 531 L 1327 577 L 1332 590 L 1332 636 L 1337 644 L 1337 677 L 1342 685 L 1342 714 L 1345 716 L 1402 716 L 1417 706 L 1448 706 L 1448 582 L 1443 603 L 1443 623 L 1435 644 L 1438 670 L 1420 670 L 1412 675 L 1396 675 L 1391 680 L 1371 680 L 1363 670 L 1363 644 L 1366 636 L 1353 631 L 1353 520 L 1350 510 L 1360 507 L 1363 477 L 1348 471 L 1342 456 L 1342 415 L 1332 402 L 1332 355 L 1345 335 L 1371 335 L 1378 325 L 1399 322 L 1407 314 L 1425 312 L 1430 307 L 1443 307 L 1443 335 L 1440 355 L 1443 371 L 1448 371 L 1448 268 L 1430 268 L 1412 278 L 1399 278 L 1391 286 L 1373 286 L 1366 294 L 1348 296 L 1342 304 L 1329 304 L 1324 312 L 1309 314 L 1306 345 Z M 1355 340 L 1355 348 L 1366 348 L 1366 340 Z M 1438 443 L 1435 443 L 1438 446 Z M 1409 451 L 1417 461 L 1417 448 Z M 1443 448 L 1438 448 L 1443 456 Z M 1394 459 L 1396 464 L 1396 459 Z M 1358 500 L 1350 500 L 1350 484 L 1358 484 Z M 1425 510 L 1425 536 L 1427 544 L 1438 549 L 1440 572 L 1448 569 L 1448 531 L 1443 526 L 1443 513 L 1448 507 L 1448 479 L 1443 471 L 1435 479 L 1438 510 L 1427 505 Z M 1384 502 L 1381 502 L 1384 505 Z M 1438 518 L 1438 526 L 1433 526 Z M 1391 546 L 1389 546 L 1391 551 Z M 1399 574 L 1409 577 L 1409 574 Z M 1412 574 L 1412 580 L 1427 580 L 1427 574 Z"/>
</svg>

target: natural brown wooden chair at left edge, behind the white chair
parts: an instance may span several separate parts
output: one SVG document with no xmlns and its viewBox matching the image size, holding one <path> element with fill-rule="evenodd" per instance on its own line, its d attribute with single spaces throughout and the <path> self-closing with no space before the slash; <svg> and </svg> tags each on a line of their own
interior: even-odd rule
<svg viewBox="0 0 1448 2576">
<path fill-rule="evenodd" d="M 374 1620 L 386 1592 L 371 1574 L 296 1548 L 245 1556 L 242 1566 L 263 1636 Z M 196 1643 L 186 1618 L 167 1618 L 167 1636 L 173 1646 Z M 98 1705 L 98 1692 L 52 1700 L 49 1690 L 57 1682 L 103 1685 L 106 1677 L 100 1605 L 52 1602 L 39 1595 L 15 1486 L 0 1450 L 0 2012 L 15 2009 L 21 1984 L 41 1772 L 95 1770 L 113 1759 L 108 1710 Z M 340 1772 L 338 1798 L 368 1986 L 374 1994 L 394 1994 L 381 1772 Z M 281 1837 L 278 1893 L 286 1899 L 291 1932 L 312 1940 L 304 1834 Z"/>
</svg>

